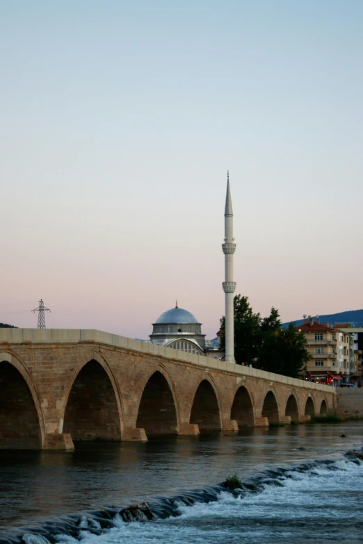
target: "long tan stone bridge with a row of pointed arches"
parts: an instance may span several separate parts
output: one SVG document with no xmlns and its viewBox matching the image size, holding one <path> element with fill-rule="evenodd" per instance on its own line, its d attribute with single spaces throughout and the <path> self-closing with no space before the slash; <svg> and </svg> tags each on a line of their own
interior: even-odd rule
<svg viewBox="0 0 363 544">
<path fill-rule="evenodd" d="M 334 388 L 111 333 L 0 329 L 0 448 L 303 422 Z"/>
</svg>

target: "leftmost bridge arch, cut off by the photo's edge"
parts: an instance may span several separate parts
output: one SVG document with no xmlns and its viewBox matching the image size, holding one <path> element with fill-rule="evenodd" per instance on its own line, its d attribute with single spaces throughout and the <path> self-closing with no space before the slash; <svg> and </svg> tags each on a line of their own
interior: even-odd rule
<svg viewBox="0 0 363 544">
<path fill-rule="evenodd" d="M 41 450 L 45 418 L 26 366 L 9 352 L 0 353 L 0 449 Z"/>
</svg>

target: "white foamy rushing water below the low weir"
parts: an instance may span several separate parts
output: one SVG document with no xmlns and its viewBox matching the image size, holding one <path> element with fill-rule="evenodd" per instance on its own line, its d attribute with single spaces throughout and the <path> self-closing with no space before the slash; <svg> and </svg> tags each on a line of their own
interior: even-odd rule
<svg viewBox="0 0 363 544">
<path fill-rule="evenodd" d="M 191 506 L 179 498 L 173 516 L 126 523 L 116 515 L 114 527 L 104 531 L 83 517 L 76 537 L 60 533 L 54 538 L 65 544 L 362 542 L 362 484 L 359 460 L 273 468 L 255 479 L 255 491 L 220 491 L 217 500 Z M 48 544 L 42 536 L 23 539 Z"/>
</svg>

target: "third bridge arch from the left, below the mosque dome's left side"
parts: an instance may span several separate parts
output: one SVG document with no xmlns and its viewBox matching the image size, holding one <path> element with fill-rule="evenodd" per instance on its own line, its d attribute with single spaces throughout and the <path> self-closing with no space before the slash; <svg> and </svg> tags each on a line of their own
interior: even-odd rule
<svg viewBox="0 0 363 544">
<path fill-rule="evenodd" d="M 146 436 L 178 434 L 179 418 L 172 382 L 161 365 L 145 381 L 136 420 Z"/>
</svg>

